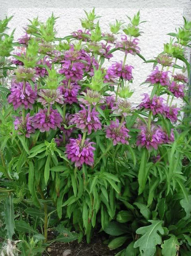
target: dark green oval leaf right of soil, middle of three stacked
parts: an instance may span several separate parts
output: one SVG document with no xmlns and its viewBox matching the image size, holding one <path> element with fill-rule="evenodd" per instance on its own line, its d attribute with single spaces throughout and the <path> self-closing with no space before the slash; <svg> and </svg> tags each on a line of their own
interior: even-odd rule
<svg viewBox="0 0 191 256">
<path fill-rule="evenodd" d="M 127 231 L 127 226 L 116 221 L 109 222 L 109 224 L 104 228 L 104 232 L 111 236 L 120 236 L 122 234 L 126 234 Z"/>
</svg>

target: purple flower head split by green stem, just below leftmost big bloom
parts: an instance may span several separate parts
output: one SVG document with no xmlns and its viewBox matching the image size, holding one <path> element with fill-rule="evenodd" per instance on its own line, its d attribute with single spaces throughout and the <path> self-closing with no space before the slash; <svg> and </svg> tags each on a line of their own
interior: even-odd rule
<svg viewBox="0 0 191 256">
<path fill-rule="evenodd" d="M 30 138 L 31 133 L 35 133 L 35 128 L 32 126 L 32 117 L 29 113 L 26 115 L 24 123 L 22 117 L 16 117 L 14 124 L 19 135 L 25 134 L 25 137 Z"/>
</svg>

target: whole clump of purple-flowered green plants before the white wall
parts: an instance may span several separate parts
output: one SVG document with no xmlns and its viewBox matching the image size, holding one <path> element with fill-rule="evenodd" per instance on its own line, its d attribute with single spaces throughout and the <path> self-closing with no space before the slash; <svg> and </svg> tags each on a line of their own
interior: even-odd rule
<svg viewBox="0 0 191 256">
<path fill-rule="evenodd" d="M 42 255 L 98 231 L 118 256 L 189 255 L 191 129 L 174 98 L 190 109 L 191 22 L 146 60 L 139 12 L 109 32 L 85 14 L 64 38 L 53 14 L 30 20 L 17 42 L 11 18 L 0 21 L 1 255 Z M 129 55 L 153 62 L 136 108 Z"/>
</svg>

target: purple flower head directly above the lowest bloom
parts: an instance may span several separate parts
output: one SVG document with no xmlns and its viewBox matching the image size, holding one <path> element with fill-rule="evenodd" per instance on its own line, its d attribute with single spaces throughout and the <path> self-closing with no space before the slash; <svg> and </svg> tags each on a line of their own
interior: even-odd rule
<svg viewBox="0 0 191 256">
<path fill-rule="evenodd" d="M 76 124 L 77 128 L 81 129 L 83 133 L 87 132 L 87 134 L 90 134 L 92 130 L 97 131 L 98 129 L 102 129 L 98 117 L 99 113 L 95 111 L 95 108 L 90 110 L 90 107 L 86 109 L 83 105 L 80 106 L 83 109 L 74 114 L 70 122 Z"/>
</svg>

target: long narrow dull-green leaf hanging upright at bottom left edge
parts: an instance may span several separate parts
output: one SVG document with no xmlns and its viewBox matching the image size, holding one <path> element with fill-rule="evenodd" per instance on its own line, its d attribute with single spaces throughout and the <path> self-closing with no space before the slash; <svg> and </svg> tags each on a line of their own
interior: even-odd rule
<svg viewBox="0 0 191 256">
<path fill-rule="evenodd" d="M 7 236 L 9 239 L 12 239 L 12 236 L 15 233 L 15 212 L 13 205 L 13 195 L 11 193 L 4 200 L 4 213 Z"/>
</svg>

